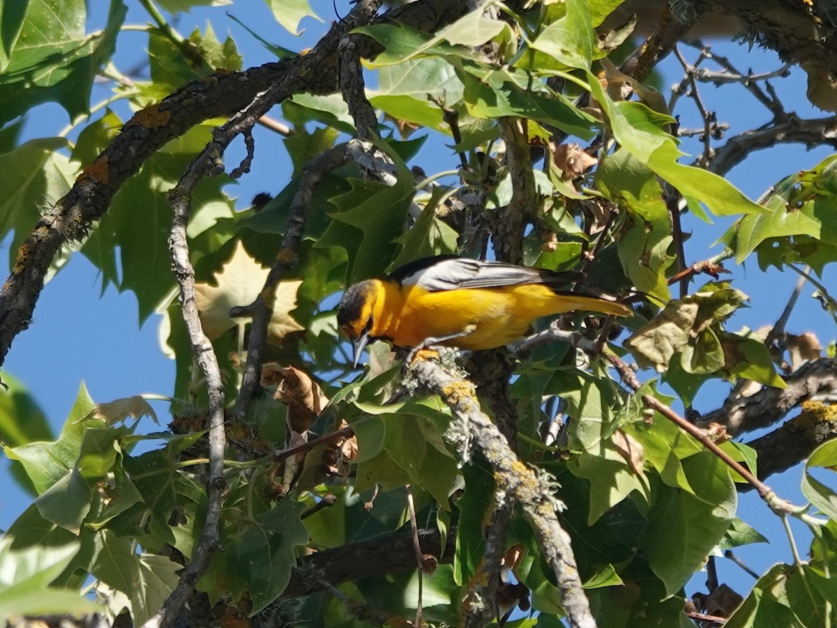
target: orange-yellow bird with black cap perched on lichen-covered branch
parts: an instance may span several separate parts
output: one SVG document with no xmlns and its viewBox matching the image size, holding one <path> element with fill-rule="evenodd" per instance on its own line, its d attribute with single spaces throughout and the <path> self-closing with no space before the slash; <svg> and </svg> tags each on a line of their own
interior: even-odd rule
<svg viewBox="0 0 837 628">
<path fill-rule="evenodd" d="M 352 284 L 337 307 L 337 323 L 352 341 L 357 365 L 369 340 L 483 350 L 519 340 L 533 320 L 549 314 L 634 315 L 624 304 L 559 291 L 580 276 L 452 255 L 424 258 L 388 278 Z"/>
</svg>

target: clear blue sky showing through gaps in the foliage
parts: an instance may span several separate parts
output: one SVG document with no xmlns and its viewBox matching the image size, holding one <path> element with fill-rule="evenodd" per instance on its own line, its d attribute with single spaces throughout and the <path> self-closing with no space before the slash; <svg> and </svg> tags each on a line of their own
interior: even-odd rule
<svg viewBox="0 0 837 628">
<path fill-rule="evenodd" d="M 90 3 L 94 4 L 105 3 Z M 128 4 L 131 8 L 128 23 L 148 21 L 146 15 L 137 8 L 136 2 L 129 0 Z M 326 23 L 306 19 L 301 25 L 306 29 L 306 33 L 301 38 L 291 37 L 278 25 L 274 25 L 270 10 L 259 0 L 239 0 L 231 7 L 196 9 L 182 18 L 178 28 L 181 33 L 188 34 L 196 25 L 205 28 L 207 18 L 212 18 L 213 28 L 219 38 L 223 38 L 228 32 L 233 34 L 239 50 L 244 54 L 244 64 L 249 67 L 274 59 L 243 28 L 228 18 L 226 12 L 233 13 L 272 42 L 290 49 L 303 49 L 316 41 L 319 33 L 322 33 L 327 23 L 335 17 L 331 0 L 314 0 L 311 4 Z M 103 8 L 93 10 L 101 11 Z M 347 3 L 340 2 L 337 4 L 337 10 L 345 14 L 349 7 Z M 103 15 L 95 13 L 91 18 L 90 30 L 97 28 L 102 18 Z M 141 60 L 141 51 L 146 47 L 146 36 L 142 33 L 126 33 L 122 37 L 126 38 L 126 42 L 121 43 L 121 47 L 129 52 L 118 55 L 116 63 L 121 69 L 128 69 Z M 749 68 L 754 72 L 762 72 L 780 66 L 776 56 L 769 51 L 748 50 L 747 46 L 734 43 L 713 43 L 713 49 L 732 59 L 739 69 Z M 694 49 L 684 47 L 683 50 L 686 59 L 696 59 L 697 53 Z M 709 67 L 710 64 L 706 65 Z M 670 84 L 680 79 L 682 71 L 673 57 L 666 60 L 663 68 L 662 87 L 668 95 L 667 89 Z M 804 73 L 800 70 L 793 69 L 788 79 L 778 79 L 774 84 L 779 94 L 785 96 L 788 110 L 795 110 L 801 117 L 824 115 L 813 110 L 804 99 Z M 99 89 L 94 100 L 104 99 L 106 95 L 103 89 Z M 704 85 L 701 95 L 709 109 L 718 110 L 721 121 L 727 121 L 732 125 L 730 134 L 735 130 L 754 128 L 769 119 L 767 110 L 758 105 L 741 87 L 715 89 Z M 37 117 L 30 116 L 25 129 L 26 139 L 54 135 L 68 121 L 64 110 L 55 105 L 44 105 L 37 113 Z M 684 125 L 696 126 L 694 105 L 687 103 L 685 99 L 681 100 L 676 113 L 682 116 Z M 122 115 L 125 117 L 124 113 Z M 274 115 L 279 117 L 279 111 L 275 110 Z M 257 130 L 256 142 L 253 173 L 245 176 L 238 185 L 227 189 L 230 195 L 239 197 L 239 207 L 246 207 L 256 192 L 279 191 L 290 177 L 290 161 L 280 137 Z M 424 166 L 428 174 L 434 169 L 455 167 L 455 157 L 451 156 L 443 145 L 444 140 L 431 140 L 419 156 L 418 163 Z M 700 147 L 694 141 L 687 141 L 684 150 L 696 154 Z M 757 198 L 783 176 L 814 166 L 829 152 L 827 149 L 809 152 L 799 146 L 778 146 L 772 151 L 762 151 L 745 164 L 737 166 L 730 178 L 748 196 Z M 239 154 L 240 151 L 229 156 L 228 167 L 237 164 Z M 729 225 L 729 221 L 719 219 L 715 225 L 707 228 L 701 222 L 691 221 L 694 219 L 688 218 L 685 225 L 686 231 L 691 231 L 692 228 L 696 230 L 695 237 L 686 243 L 686 258 L 689 263 L 717 253 L 719 249 L 711 248 L 711 243 Z M 8 249 L 8 242 L 5 246 Z M 0 258 L 8 258 L 6 250 L 0 253 Z M 737 268 L 730 263 L 728 268 L 734 270 L 737 281 L 741 281 L 737 287 L 752 298 L 752 308 L 737 314 L 728 324 L 728 328 L 735 330 L 747 325 L 751 329 L 757 329 L 765 324 L 773 324 L 782 312 L 797 276 L 792 273 L 778 273 L 775 270 L 762 273 L 754 262 L 746 267 Z M 827 268 L 825 285 L 837 285 L 834 278 L 834 269 Z M 788 323 L 788 331 L 814 331 L 821 343 L 827 345 L 834 339 L 834 321 L 822 311 L 814 299 L 810 298 L 812 291 L 813 287 L 804 288 L 799 304 Z M 3 371 L 13 374 L 28 386 L 43 406 L 55 431 L 59 430 L 64 416 L 73 405 L 82 381 L 85 381 L 91 396 L 98 402 L 139 393 L 168 395 L 172 391 L 174 365 L 159 349 L 156 317 L 152 317 L 141 329 L 137 329 L 136 299 L 131 293 L 117 294 L 114 288 L 109 288 L 101 299 L 99 294 L 100 278 L 95 268 L 81 256 L 72 258 L 44 288 L 35 309 L 32 326 L 18 335 L 3 366 Z M 645 379 L 649 376 L 644 374 Z M 719 406 L 723 394 L 723 389 L 718 386 L 707 387 L 699 396 L 696 409 L 708 411 Z M 165 404 L 158 405 L 157 408 L 161 420 L 167 421 Z M 151 430 L 152 427 L 149 426 L 148 429 Z M 8 476 L 6 466 L 0 467 L 3 467 L 0 472 Z M 796 469 L 785 474 L 781 481 L 772 478 L 769 483 L 781 496 L 801 503 L 803 500 L 798 491 L 799 477 L 800 470 Z M 29 501 L 28 496 L 19 491 L 8 477 L 4 477 L 4 486 L 6 488 L 0 496 L 0 528 L 7 528 Z M 766 513 L 766 507 L 753 493 L 742 497 L 742 518 L 771 539 L 777 539 L 768 550 L 764 546 L 757 546 L 753 550 L 742 551 L 745 560 L 759 572 L 763 572 L 769 564 L 777 560 L 790 560 L 787 541 L 784 540 L 778 518 L 765 516 Z M 732 579 L 737 567 L 723 561 L 721 565 L 721 579 L 724 579 L 725 574 L 728 574 L 727 579 Z M 742 579 L 741 582 L 739 590 L 746 590 L 747 585 L 744 583 L 747 583 L 747 579 Z M 698 588 L 697 583 L 694 588 Z"/>
</svg>

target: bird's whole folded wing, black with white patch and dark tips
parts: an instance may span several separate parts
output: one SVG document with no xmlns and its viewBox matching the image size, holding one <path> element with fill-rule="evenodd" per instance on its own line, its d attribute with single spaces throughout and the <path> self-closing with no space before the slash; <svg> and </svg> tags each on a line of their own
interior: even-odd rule
<svg viewBox="0 0 837 628">
<path fill-rule="evenodd" d="M 419 259 L 398 268 L 390 278 L 402 285 L 417 285 L 429 292 L 457 288 L 497 288 L 521 283 L 544 283 L 562 288 L 581 278 L 580 273 L 554 273 L 500 262 L 440 255 Z"/>
</svg>

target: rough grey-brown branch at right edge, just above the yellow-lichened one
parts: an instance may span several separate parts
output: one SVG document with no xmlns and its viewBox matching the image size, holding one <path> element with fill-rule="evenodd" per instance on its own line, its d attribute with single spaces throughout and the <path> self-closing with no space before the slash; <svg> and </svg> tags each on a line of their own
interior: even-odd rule
<svg viewBox="0 0 837 628">
<path fill-rule="evenodd" d="M 834 360 L 820 358 L 799 367 L 784 380 L 787 388 L 765 387 L 752 396 L 728 398 L 721 408 L 701 416 L 697 424 L 719 423 L 733 437 L 772 426 L 803 401 L 837 391 L 837 368 Z"/>
</svg>

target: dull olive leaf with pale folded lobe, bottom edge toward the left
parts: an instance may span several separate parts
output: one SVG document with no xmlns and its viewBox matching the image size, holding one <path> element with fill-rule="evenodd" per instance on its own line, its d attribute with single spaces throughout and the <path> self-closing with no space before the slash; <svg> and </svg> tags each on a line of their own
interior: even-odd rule
<svg viewBox="0 0 837 628">
<path fill-rule="evenodd" d="M 177 586 L 182 566 L 165 556 L 136 554 L 131 539 L 118 539 L 110 530 L 100 532 L 101 551 L 91 573 L 131 600 L 135 625 L 144 625 L 160 610 Z"/>
</svg>

